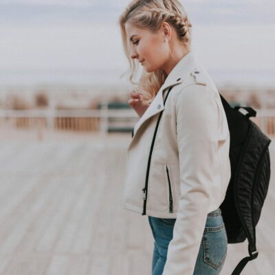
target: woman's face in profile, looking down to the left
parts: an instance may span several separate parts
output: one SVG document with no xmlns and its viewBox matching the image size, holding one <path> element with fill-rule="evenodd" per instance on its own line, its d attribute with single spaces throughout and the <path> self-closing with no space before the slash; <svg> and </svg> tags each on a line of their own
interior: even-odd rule
<svg viewBox="0 0 275 275">
<path fill-rule="evenodd" d="M 146 72 L 163 69 L 168 61 L 169 47 L 162 31 L 151 32 L 147 28 L 139 28 L 131 23 L 125 23 L 127 42 L 131 58 L 137 59 Z"/>
</svg>

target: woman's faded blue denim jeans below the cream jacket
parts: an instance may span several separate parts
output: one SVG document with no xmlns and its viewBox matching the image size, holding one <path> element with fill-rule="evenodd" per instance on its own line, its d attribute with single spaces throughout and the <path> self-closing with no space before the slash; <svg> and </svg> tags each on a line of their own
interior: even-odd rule
<svg viewBox="0 0 275 275">
<path fill-rule="evenodd" d="M 173 239 L 173 228 L 176 219 L 148 217 L 155 239 L 152 275 L 161 275 L 166 263 L 168 245 Z M 208 214 L 206 227 L 201 239 L 199 254 L 193 275 L 218 275 L 221 272 L 228 249 L 221 210 L 218 208 Z"/>
</svg>

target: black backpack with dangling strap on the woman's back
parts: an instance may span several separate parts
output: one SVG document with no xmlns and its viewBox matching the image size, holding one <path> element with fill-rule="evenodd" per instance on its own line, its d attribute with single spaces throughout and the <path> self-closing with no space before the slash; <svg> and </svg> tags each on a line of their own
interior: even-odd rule
<svg viewBox="0 0 275 275">
<path fill-rule="evenodd" d="M 221 96 L 221 94 L 220 94 Z M 256 224 L 270 183 L 271 140 L 249 118 L 256 117 L 251 107 L 231 107 L 221 96 L 221 102 L 230 131 L 231 178 L 221 214 L 225 223 L 228 243 L 248 239 L 250 256 L 242 259 L 232 275 L 239 275 L 248 263 L 256 259 Z M 239 109 L 245 109 L 245 115 Z"/>
</svg>

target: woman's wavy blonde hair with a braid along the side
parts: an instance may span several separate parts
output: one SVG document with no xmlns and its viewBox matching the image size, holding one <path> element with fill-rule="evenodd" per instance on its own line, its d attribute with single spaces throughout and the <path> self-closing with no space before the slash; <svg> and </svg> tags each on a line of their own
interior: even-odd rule
<svg viewBox="0 0 275 275">
<path fill-rule="evenodd" d="M 190 28 L 192 24 L 178 0 L 133 0 L 120 15 L 122 43 L 126 58 L 130 63 L 130 68 L 122 76 L 129 74 L 129 81 L 134 85 L 134 90 L 142 94 L 142 102 L 150 104 L 166 80 L 167 74 L 161 69 L 150 73 L 143 69 L 142 76 L 138 82 L 135 82 L 139 64 L 130 56 L 125 31 L 126 22 L 140 28 L 148 28 L 152 32 L 156 32 L 163 22 L 167 22 L 175 29 L 179 42 L 184 45 L 188 52 L 191 44 Z"/>
</svg>

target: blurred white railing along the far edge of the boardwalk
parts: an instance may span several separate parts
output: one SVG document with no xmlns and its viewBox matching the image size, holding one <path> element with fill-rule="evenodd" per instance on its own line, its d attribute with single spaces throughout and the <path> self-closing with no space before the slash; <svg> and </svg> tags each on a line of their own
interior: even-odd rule
<svg viewBox="0 0 275 275">
<path fill-rule="evenodd" d="M 268 136 L 275 136 L 275 110 L 256 109 L 251 118 Z M 0 110 L 0 138 L 36 136 L 40 140 L 56 133 L 85 133 L 106 137 L 110 127 L 133 128 L 137 114 L 132 109 L 98 110 Z M 118 130 L 119 131 L 119 130 Z"/>
</svg>

